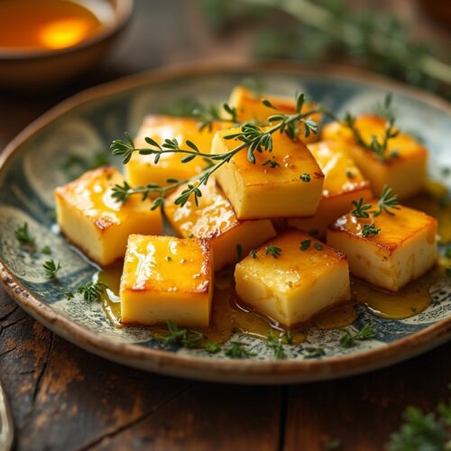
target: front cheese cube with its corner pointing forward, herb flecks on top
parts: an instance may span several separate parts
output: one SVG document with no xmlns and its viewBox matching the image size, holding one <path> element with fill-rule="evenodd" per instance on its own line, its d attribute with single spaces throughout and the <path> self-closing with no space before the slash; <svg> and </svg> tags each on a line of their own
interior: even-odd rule
<svg viewBox="0 0 451 451">
<path fill-rule="evenodd" d="M 246 304 L 285 327 L 351 299 L 345 255 L 294 229 L 239 262 L 235 287 Z"/>
</svg>

